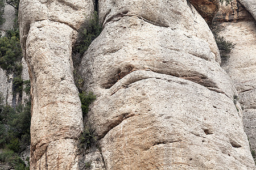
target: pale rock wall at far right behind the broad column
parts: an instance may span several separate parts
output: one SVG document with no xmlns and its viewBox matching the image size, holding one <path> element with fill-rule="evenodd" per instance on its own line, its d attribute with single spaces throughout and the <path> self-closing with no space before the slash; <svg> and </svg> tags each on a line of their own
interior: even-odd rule
<svg viewBox="0 0 256 170">
<path fill-rule="evenodd" d="M 245 3 L 246 1 L 240 2 Z M 255 1 L 249 2 L 247 2 L 248 7 L 255 7 Z M 222 27 L 220 35 L 236 45 L 232 49 L 228 61 L 224 62 L 222 67 L 230 75 L 238 91 L 238 98 L 244 109 L 245 131 L 251 149 L 256 150 L 256 23 L 253 16 L 246 13 L 245 8 L 238 1 L 232 1 L 231 5 L 222 6 L 221 13 L 224 12 L 227 14 L 225 18 L 229 18 L 229 22 L 219 23 Z M 253 11 L 250 12 L 255 14 Z M 218 16 L 218 18 L 220 17 Z"/>
</svg>

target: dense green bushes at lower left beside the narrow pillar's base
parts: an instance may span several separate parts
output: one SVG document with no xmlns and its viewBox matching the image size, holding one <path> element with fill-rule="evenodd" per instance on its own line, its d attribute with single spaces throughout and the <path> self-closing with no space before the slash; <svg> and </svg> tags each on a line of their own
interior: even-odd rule
<svg viewBox="0 0 256 170">
<path fill-rule="evenodd" d="M 0 161 L 14 169 L 28 169 L 18 154 L 30 144 L 30 108 L 30 101 L 13 108 L 0 99 Z"/>
</svg>

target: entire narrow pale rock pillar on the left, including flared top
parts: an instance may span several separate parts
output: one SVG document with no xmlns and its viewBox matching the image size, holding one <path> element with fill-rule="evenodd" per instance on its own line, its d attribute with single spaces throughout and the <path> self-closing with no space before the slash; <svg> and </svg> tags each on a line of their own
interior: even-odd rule
<svg viewBox="0 0 256 170">
<path fill-rule="evenodd" d="M 72 43 L 92 1 L 22 0 L 20 39 L 31 80 L 30 169 L 78 169 L 82 111 Z"/>
</svg>

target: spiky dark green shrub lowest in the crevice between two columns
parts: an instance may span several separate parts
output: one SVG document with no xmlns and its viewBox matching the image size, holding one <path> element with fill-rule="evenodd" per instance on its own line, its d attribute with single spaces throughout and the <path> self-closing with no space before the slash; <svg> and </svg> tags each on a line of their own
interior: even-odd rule
<svg viewBox="0 0 256 170">
<path fill-rule="evenodd" d="M 84 130 L 79 136 L 80 149 L 88 149 L 95 145 L 96 138 L 94 137 L 94 131 L 92 128 L 85 126 Z"/>
</svg>

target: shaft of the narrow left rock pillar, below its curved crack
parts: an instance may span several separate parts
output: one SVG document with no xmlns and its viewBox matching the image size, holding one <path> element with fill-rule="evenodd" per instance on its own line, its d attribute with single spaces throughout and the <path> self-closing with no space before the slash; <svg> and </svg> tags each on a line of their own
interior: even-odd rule
<svg viewBox="0 0 256 170">
<path fill-rule="evenodd" d="M 76 145 L 82 130 L 82 115 L 72 74 L 72 34 L 73 29 L 68 25 L 48 20 L 32 23 L 28 33 L 31 169 L 77 166 Z"/>
</svg>

